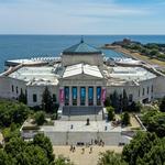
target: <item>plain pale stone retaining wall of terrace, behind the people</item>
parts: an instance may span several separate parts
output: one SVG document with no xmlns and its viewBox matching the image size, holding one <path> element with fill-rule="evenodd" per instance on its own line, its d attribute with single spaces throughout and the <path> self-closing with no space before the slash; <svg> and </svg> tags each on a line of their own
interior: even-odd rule
<svg viewBox="0 0 165 165">
<path fill-rule="evenodd" d="M 44 132 L 53 145 L 76 145 L 77 142 L 91 143 L 91 140 L 102 140 L 106 145 L 119 145 L 121 132 Z"/>
</svg>

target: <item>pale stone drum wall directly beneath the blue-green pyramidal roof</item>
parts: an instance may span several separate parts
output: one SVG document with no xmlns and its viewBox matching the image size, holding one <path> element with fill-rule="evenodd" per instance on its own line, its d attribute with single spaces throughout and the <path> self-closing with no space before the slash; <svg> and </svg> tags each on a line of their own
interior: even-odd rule
<svg viewBox="0 0 165 165">
<path fill-rule="evenodd" d="M 92 55 L 63 55 L 62 64 L 64 66 L 86 63 L 89 65 L 103 66 L 102 55 L 92 54 Z"/>
</svg>

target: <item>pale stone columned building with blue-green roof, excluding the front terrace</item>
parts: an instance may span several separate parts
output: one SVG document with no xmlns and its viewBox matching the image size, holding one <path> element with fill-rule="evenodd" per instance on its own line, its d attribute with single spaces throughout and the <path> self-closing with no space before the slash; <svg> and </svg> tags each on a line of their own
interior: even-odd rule
<svg viewBox="0 0 165 165">
<path fill-rule="evenodd" d="M 8 61 L 6 65 L 9 68 L 0 76 L 1 98 L 18 99 L 22 90 L 30 107 L 41 106 L 48 87 L 66 116 L 89 109 L 99 113 L 114 90 L 122 95 L 125 89 L 130 102 L 165 96 L 165 77 L 154 67 L 134 61 L 110 65 L 100 50 L 82 40 L 61 57 Z"/>
</svg>

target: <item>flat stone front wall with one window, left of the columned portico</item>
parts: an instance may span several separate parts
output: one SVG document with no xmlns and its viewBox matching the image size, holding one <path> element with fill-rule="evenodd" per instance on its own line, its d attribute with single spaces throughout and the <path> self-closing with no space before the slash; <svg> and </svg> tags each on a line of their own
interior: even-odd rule
<svg viewBox="0 0 165 165">
<path fill-rule="evenodd" d="M 35 107 L 42 105 L 42 95 L 46 86 L 28 86 L 28 106 Z M 51 95 L 56 95 L 58 102 L 58 86 L 48 86 Z M 33 95 L 36 95 L 36 102 L 33 101 Z"/>
</svg>

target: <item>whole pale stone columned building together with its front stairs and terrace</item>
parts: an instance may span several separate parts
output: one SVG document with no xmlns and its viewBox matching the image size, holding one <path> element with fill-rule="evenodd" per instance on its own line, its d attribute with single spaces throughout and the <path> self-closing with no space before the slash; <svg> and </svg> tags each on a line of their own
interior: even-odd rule
<svg viewBox="0 0 165 165">
<path fill-rule="evenodd" d="M 22 91 L 28 106 L 41 106 L 48 87 L 53 100 L 59 103 L 59 120 L 40 130 L 54 145 L 91 144 L 94 140 L 106 145 L 129 143 L 127 129 L 102 120 L 106 98 L 123 90 L 130 102 L 165 96 L 165 77 L 154 67 L 134 59 L 111 63 L 84 41 L 65 50 L 61 57 L 8 61 L 6 65 L 8 69 L 0 75 L 1 98 L 18 99 Z M 24 139 L 34 135 L 33 131 L 21 133 Z"/>
</svg>

